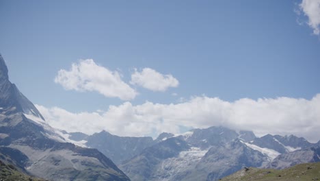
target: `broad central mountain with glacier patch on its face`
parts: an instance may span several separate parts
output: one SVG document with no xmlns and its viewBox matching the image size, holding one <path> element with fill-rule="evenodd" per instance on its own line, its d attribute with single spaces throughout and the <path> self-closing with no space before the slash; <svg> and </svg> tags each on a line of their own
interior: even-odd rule
<svg viewBox="0 0 320 181">
<path fill-rule="evenodd" d="M 258 167 L 268 160 L 224 127 L 160 134 L 156 141 L 120 165 L 132 180 L 218 180 L 243 165 Z"/>
</svg>

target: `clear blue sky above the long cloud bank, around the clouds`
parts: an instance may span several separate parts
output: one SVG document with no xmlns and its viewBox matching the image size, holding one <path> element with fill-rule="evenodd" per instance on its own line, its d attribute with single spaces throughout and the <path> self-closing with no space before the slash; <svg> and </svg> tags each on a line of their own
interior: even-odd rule
<svg viewBox="0 0 320 181">
<path fill-rule="evenodd" d="M 312 24 L 300 4 L 1 0 L 0 53 L 10 80 L 34 104 L 68 112 L 146 101 L 170 105 L 192 97 L 219 97 L 231 104 L 243 98 L 309 101 L 320 93 L 319 24 Z M 98 88 L 66 90 L 55 82 L 60 70 L 87 59 L 119 73 L 137 95 L 124 100 Z M 131 75 L 144 68 L 172 75 L 178 85 L 157 91 L 131 84 Z"/>
</svg>

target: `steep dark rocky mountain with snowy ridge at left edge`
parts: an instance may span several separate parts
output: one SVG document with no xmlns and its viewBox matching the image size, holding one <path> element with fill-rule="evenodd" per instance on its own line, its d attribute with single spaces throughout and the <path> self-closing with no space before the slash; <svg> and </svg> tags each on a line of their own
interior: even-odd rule
<svg viewBox="0 0 320 181">
<path fill-rule="evenodd" d="M 97 149 L 67 143 L 9 81 L 0 56 L 0 160 L 49 180 L 130 180 Z"/>
</svg>

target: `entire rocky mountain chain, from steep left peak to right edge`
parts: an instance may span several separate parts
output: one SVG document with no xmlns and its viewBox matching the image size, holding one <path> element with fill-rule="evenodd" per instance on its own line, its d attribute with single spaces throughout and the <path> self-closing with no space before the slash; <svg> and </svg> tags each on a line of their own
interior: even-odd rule
<svg viewBox="0 0 320 181">
<path fill-rule="evenodd" d="M 122 137 L 51 128 L 9 81 L 0 56 L 0 160 L 49 180 L 219 180 L 243 167 L 284 169 L 320 161 L 320 141 L 224 127 Z"/>
</svg>

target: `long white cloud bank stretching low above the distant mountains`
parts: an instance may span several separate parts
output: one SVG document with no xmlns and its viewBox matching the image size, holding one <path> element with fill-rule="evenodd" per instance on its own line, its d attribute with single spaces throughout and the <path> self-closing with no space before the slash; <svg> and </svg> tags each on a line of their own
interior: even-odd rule
<svg viewBox="0 0 320 181">
<path fill-rule="evenodd" d="M 265 134 L 295 134 L 315 142 L 320 138 L 320 94 L 312 99 L 239 99 L 191 97 L 178 104 L 125 102 L 103 112 L 72 113 L 62 108 L 38 106 L 46 121 L 68 132 L 92 134 L 107 130 L 120 136 L 146 136 L 161 132 L 179 133 L 181 125 L 208 128 L 222 125 L 235 130 Z"/>
</svg>

